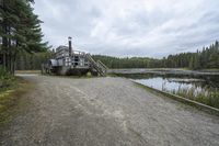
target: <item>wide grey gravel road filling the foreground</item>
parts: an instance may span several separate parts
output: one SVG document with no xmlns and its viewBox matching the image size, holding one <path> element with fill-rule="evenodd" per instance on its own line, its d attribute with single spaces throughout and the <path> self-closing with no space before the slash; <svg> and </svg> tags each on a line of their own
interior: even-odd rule
<svg viewBox="0 0 219 146">
<path fill-rule="evenodd" d="M 219 117 L 123 78 L 23 78 L 28 106 L 1 132 L 2 146 L 218 146 Z"/>
</svg>

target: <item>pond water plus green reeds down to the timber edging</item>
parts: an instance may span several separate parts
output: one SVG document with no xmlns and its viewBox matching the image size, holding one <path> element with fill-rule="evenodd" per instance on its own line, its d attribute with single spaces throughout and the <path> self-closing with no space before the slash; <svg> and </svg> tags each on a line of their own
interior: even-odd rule
<svg viewBox="0 0 219 146">
<path fill-rule="evenodd" d="M 117 75 L 148 87 L 219 108 L 219 76 Z"/>
</svg>

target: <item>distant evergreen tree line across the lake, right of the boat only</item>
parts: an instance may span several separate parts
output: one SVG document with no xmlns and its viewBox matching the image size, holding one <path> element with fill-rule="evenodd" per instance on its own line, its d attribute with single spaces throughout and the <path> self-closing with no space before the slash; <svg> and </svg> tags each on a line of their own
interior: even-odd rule
<svg viewBox="0 0 219 146">
<path fill-rule="evenodd" d="M 219 68 L 219 43 L 216 41 L 196 53 L 169 55 L 162 59 L 148 57 L 112 57 L 93 55 L 95 60 L 103 61 L 108 68 Z"/>
</svg>

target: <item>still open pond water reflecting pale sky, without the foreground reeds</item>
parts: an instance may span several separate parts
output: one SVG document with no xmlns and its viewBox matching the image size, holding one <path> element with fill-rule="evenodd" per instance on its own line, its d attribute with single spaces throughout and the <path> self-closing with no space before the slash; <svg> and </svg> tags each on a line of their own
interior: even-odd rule
<svg viewBox="0 0 219 146">
<path fill-rule="evenodd" d="M 155 74 L 135 74 L 135 75 L 117 75 L 126 78 L 135 79 L 140 83 L 147 83 L 155 89 L 162 89 L 163 83 L 170 89 L 181 87 L 199 87 L 199 88 L 219 88 L 219 76 L 184 76 L 184 75 L 165 75 Z"/>
</svg>

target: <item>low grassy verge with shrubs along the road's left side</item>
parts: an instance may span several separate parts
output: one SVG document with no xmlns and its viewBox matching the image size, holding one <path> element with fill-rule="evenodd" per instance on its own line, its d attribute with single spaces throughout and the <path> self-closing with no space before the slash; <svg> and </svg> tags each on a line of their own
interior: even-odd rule
<svg viewBox="0 0 219 146">
<path fill-rule="evenodd" d="M 26 86 L 28 85 L 28 87 Z M 30 89 L 30 83 L 0 69 L 0 127 L 18 112 L 21 94 Z"/>
</svg>

